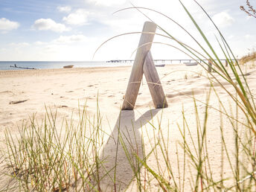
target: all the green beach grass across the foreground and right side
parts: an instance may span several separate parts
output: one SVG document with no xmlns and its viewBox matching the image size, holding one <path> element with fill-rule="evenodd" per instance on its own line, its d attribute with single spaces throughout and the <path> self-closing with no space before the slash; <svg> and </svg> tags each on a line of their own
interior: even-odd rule
<svg viewBox="0 0 256 192">
<path fill-rule="evenodd" d="M 199 65 L 205 71 L 208 63 L 203 60 L 210 59 L 214 66 L 214 73 L 208 73 L 208 83 L 211 86 L 205 100 L 198 100 L 195 95 L 191 97 L 193 126 L 191 118 L 187 117 L 181 106 L 182 121 L 176 127 L 182 139 L 178 143 L 171 141 L 169 135 L 173 127 L 161 127 L 163 113 L 158 121 L 148 121 L 146 127 L 141 125 L 141 135 L 135 134 L 133 126 L 132 132 L 121 129 L 120 117 L 116 124 L 118 137 L 112 138 L 112 135 L 106 133 L 105 127 L 102 127 L 103 117 L 100 115 L 99 105 L 95 116 L 88 115 L 85 105 L 79 110 L 78 124 L 74 124 L 72 118 L 64 118 L 61 127 L 56 126 L 57 112 L 45 108 L 44 121 L 38 122 L 36 116 L 33 116 L 30 122 L 22 124 L 19 135 L 13 136 L 8 130 L 5 133 L 7 150 L 4 162 L 9 168 L 10 177 L 16 181 L 18 190 L 129 191 L 135 182 L 136 191 L 255 191 L 255 97 L 240 64 L 217 26 L 213 23 L 220 35 L 218 49 L 223 51 L 229 70 L 220 62 L 216 48 L 208 41 L 187 7 L 184 4 L 182 6 L 210 51 L 206 51 L 207 48 L 200 44 L 201 50 L 196 51 L 178 41 L 163 27 L 158 26 L 159 29 L 178 42 L 192 59 L 202 60 Z M 139 11 L 144 9 L 132 8 Z M 205 12 L 204 9 L 202 11 Z M 208 16 L 208 13 L 205 14 Z M 209 19 L 211 20 L 210 17 Z M 189 32 L 188 34 L 191 35 Z M 196 41 L 196 37 L 193 39 Z M 232 89 L 228 89 L 226 83 Z M 221 99 L 216 85 L 228 95 L 229 103 Z M 212 105 L 211 97 L 217 97 L 218 106 Z M 199 109 L 199 103 L 203 104 L 203 110 Z M 213 112 L 220 115 L 220 124 L 216 127 L 221 141 L 220 151 L 217 152 L 220 158 L 215 160 L 220 163 L 217 171 L 213 169 L 214 160 L 208 155 L 213 150 L 208 147 L 208 139 L 211 139 L 208 121 Z M 231 127 L 232 132 L 228 135 L 223 121 L 227 121 Z M 230 134 L 233 135 L 231 141 Z M 116 139 L 112 167 L 105 166 L 109 160 L 103 155 L 106 145 L 104 137 Z M 228 143 L 232 143 L 232 147 L 228 147 Z M 176 164 L 173 164 L 174 157 L 170 154 L 173 149 Z M 116 177 L 120 150 L 124 151 L 132 170 L 131 179 L 125 185 Z M 105 179 L 109 188 L 103 183 Z"/>
</svg>

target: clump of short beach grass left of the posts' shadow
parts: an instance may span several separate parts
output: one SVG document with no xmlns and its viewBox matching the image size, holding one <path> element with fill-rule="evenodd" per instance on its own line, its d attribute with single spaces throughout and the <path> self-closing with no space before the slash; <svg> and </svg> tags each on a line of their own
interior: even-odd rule
<svg viewBox="0 0 256 192">
<path fill-rule="evenodd" d="M 57 111 L 46 109 L 42 122 L 33 116 L 16 137 L 7 130 L 4 158 L 16 185 L 22 191 L 100 191 L 100 179 L 107 173 L 99 176 L 104 132 L 97 115 L 89 118 L 84 107 L 79 124 L 63 119 L 56 127 Z"/>
</svg>

